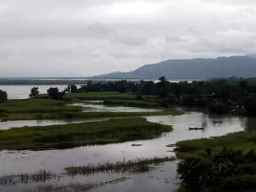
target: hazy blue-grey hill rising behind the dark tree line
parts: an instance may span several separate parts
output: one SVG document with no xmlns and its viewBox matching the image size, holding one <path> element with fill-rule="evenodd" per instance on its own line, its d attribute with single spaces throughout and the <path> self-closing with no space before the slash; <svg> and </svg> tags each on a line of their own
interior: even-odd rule
<svg viewBox="0 0 256 192">
<path fill-rule="evenodd" d="M 255 57 L 256 58 L 256 57 Z M 209 79 L 218 77 L 255 77 L 256 60 L 251 56 L 231 56 L 216 59 L 166 60 L 131 72 L 114 72 L 92 79 Z"/>
</svg>

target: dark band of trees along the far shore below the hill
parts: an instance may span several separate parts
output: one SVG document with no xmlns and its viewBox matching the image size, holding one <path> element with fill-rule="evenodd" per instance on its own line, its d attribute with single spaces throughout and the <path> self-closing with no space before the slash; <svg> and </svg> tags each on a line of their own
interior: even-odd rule
<svg viewBox="0 0 256 192">
<path fill-rule="evenodd" d="M 86 92 L 120 92 L 135 93 L 138 100 L 141 95 L 157 95 L 154 102 L 163 107 L 200 106 L 207 107 L 211 113 L 237 113 L 256 115 L 256 79 L 230 77 L 228 79 L 211 79 L 209 81 L 180 81 L 171 83 L 165 77 L 159 81 L 114 81 L 92 83 L 77 87 L 70 84 L 60 92 L 58 88 L 49 88 L 47 93 L 52 99 L 63 99 L 65 93 Z M 38 95 L 38 88 L 32 88 L 29 96 Z M 7 100 L 7 93 L 0 92 L 0 100 Z"/>
</svg>

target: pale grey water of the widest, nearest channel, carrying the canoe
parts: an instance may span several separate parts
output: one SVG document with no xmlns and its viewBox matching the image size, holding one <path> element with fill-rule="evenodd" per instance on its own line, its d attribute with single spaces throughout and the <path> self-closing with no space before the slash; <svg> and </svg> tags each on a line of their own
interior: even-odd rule
<svg viewBox="0 0 256 192">
<path fill-rule="evenodd" d="M 147 116 L 146 118 L 150 122 L 173 125 L 172 132 L 166 132 L 159 138 L 153 140 L 129 141 L 109 145 L 93 145 L 67 150 L 44 150 L 38 152 L 29 150 L 3 150 L 0 152 L 1 175 L 33 173 L 36 170 L 51 170 L 58 177 L 45 180 L 44 182 L 17 184 L 16 186 L 0 186 L 0 191 L 6 189 L 12 189 L 11 191 L 67 191 L 67 189 L 68 191 L 104 192 L 114 190 L 175 191 L 179 182 L 176 173 L 177 161 L 162 163 L 145 173 L 95 173 L 87 176 L 76 175 L 76 177 L 68 177 L 62 174 L 64 169 L 70 166 L 108 162 L 115 163 L 116 161 L 129 161 L 131 159 L 147 157 L 175 156 L 172 151 L 173 148 L 168 148 L 166 145 L 176 143 L 180 140 L 221 136 L 228 132 L 252 131 L 252 127 L 256 125 L 254 118 L 209 115 L 195 110 L 187 111 L 189 112 L 180 116 Z M 69 123 L 65 122 L 65 120 L 54 121 L 49 120 L 48 123 Z M 16 125 L 19 123 L 17 122 Z M 30 121 L 30 125 L 34 124 L 37 124 L 36 121 Z M 46 124 L 47 122 L 44 122 L 41 125 Z M 189 131 L 189 127 L 202 127 L 204 130 Z M 141 144 L 141 146 L 133 147 L 132 144 L 134 143 Z M 111 184 L 105 183 L 109 180 L 122 177 L 129 179 Z"/>
</svg>

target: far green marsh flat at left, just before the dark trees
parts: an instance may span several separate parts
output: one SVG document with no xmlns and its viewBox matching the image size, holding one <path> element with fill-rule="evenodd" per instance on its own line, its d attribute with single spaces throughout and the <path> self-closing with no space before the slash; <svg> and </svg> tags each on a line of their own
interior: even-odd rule
<svg viewBox="0 0 256 192">
<path fill-rule="evenodd" d="M 24 100 L 9 100 L 0 103 L 0 119 L 2 120 L 34 120 L 34 119 L 58 119 L 58 118 L 104 118 L 120 116 L 150 116 L 150 115 L 181 115 L 180 111 L 159 111 L 159 112 L 136 112 L 136 113 L 111 113 L 111 112 L 84 112 L 80 106 L 67 106 L 83 100 L 109 100 L 115 104 L 126 106 L 140 106 L 154 108 L 156 102 L 145 100 L 154 99 L 156 96 L 143 95 L 144 100 L 136 100 L 132 93 L 118 92 L 89 92 L 89 93 L 68 93 L 64 100 L 53 100 L 48 95 L 38 95 L 34 98 Z"/>
</svg>

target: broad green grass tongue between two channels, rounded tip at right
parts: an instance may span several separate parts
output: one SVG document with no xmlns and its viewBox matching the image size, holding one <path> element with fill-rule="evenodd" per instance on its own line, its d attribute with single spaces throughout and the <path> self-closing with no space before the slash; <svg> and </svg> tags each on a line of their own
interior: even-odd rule
<svg viewBox="0 0 256 192">
<path fill-rule="evenodd" d="M 45 150 L 156 138 L 172 126 L 146 118 L 112 118 L 104 122 L 20 127 L 0 131 L 0 150 Z"/>
</svg>

